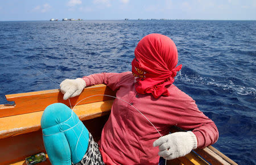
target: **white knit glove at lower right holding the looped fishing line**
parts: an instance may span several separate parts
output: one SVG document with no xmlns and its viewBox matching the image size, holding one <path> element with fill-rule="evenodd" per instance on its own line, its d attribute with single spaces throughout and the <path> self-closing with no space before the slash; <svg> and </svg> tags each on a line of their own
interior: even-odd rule
<svg viewBox="0 0 256 165">
<path fill-rule="evenodd" d="M 175 132 L 160 137 L 153 146 L 159 146 L 159 156 L 170 160 L 185 156 L 197 147 L 197 138 L 191 131 Z"/>
</svg>

